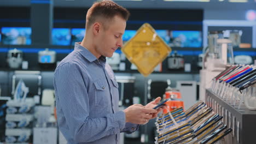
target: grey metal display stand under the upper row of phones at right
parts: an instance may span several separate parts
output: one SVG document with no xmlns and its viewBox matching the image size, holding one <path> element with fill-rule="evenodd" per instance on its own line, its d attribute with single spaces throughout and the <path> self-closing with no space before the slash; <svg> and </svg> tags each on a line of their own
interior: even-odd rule
<svg viewBox="0 0 256 144">
<path fill-rule="evenodd" d="M 233 107 L 208 89 L 206 104 L 223 116 L 223 123 L 232 128 L 232 133 L 226 136 L 226 143 L 256 143 L 256 111 L 248 110 L 245 106 L 240 109 Z"/>
</svg>

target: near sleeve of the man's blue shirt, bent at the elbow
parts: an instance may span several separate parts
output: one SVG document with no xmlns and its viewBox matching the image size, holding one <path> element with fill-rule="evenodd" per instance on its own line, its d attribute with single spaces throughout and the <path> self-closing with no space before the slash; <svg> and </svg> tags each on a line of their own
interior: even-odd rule
<svg viewBox="0 0 256 144">
<path fill-rule="evenodd" d="M 61 65 L 54 74 L 56 109 L 63 112 L 69 134 L 75 142 L 91 142 L 119 133 L 125 128 L 123 111 L 109 113 L 105 117 L 89 118 L 88 81 L 84 76 L 75 63 Z"/>
</svg>

